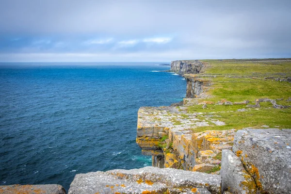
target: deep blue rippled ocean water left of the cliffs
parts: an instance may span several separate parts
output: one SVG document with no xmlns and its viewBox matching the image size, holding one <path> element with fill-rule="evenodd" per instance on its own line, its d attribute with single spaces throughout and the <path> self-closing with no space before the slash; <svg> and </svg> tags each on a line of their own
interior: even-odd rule
<svg viewBox="0 0 291 194">
<path fill-rule="evenodd" d="M 137 111 L 185 97 L 157 63 L 0 64 L 0 184 L 61 184 L 76 174 L 151 165 Z"/>
</svg>

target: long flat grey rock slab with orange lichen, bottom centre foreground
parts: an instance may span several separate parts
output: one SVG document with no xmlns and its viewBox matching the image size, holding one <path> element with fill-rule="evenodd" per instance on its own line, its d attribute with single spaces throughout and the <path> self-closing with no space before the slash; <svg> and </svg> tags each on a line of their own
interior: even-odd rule
<svg viewBox="0 0 291 194">
<path fill-rule="evenodd" d="M 204 188 L 220 194 L 221 177 L 173 168 L 144 167 L 132 170 L 111 170 L 77 174 L 68 194 L 147 194 L 187 193 Z M 191 191 L 194 189 L 193 191 Z M 206 190 L 201 190 L 201 192 Z"/>
</svg>

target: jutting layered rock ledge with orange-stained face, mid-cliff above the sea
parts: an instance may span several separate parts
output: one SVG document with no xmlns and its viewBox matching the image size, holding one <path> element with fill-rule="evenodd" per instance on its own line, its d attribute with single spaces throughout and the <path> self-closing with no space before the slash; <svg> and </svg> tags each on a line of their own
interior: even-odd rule
<svg viewBox="0 0 291 194">
<path fill-rule="evenodd" d="M 202 120 L 195 113 L 187 113 L 186 109 L 141 107 L 136 142 L 143 154 L 153 156 L 153 166 L 209 171 L 221 163 L 221 151 L 232 147 L 235 131 L 206 130 L 195 133 L 195 127 L 220 126 L 224 123 L 211 117 Z"/>
</svg>

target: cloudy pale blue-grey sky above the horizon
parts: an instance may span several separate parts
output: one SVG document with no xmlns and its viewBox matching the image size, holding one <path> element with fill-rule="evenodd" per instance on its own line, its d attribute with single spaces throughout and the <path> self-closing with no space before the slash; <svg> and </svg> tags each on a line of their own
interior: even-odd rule
<svg viewBox="0 0 291 194">
<path fill-rule="evenodd" d="M 0 0 L 0 62 L 291 57 L 291 0 Z"/>
</svg>

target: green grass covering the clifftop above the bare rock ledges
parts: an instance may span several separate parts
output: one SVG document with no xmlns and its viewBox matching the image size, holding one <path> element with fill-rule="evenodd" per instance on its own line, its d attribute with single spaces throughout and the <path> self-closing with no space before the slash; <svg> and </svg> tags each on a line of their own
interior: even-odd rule
<svg viewBox="0 0 291 194">
<path fill-rule="evenodd" d="M 211 114 L 226 123 L 224 126 L 210 125 L 193 129 L 195 132 L 207 129 L 242 129 L 245 127 L 291 128 L 291 60 L 201 60 L 207 65 L 202 74 L 188 74 L 186 77 L 203 78 L 211 86 L 198 97 L 194 105 L 188 107 L 189 113 L 201 113 L 199 117 Z M 245 104 L 221 105 L 224 101 Z M 270 99 L 270 100 L 269 100 Z M 282 106 L 274 108 L 271 100 Z M 205 104 L 206 108 L 202 108 Z M 288 107 L 290 106 L 290 107 Z"/>
</svg>

